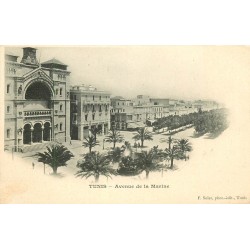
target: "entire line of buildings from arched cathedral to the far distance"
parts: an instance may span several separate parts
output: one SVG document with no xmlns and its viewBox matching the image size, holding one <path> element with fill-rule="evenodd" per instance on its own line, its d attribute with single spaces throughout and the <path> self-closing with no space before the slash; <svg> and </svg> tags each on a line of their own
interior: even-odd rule
<svg viewBox="0 0 250 250">
<path fill-rule="evenodd" d="M 211 109 L 214 103 L 113 97 L 91 85 L 71 85 L 68 65 L 53 58 L 39 63 L 36 49 L 21 60 L 5 55 L 5 147 L 26 152 L 51 141 L 83 140 L 92 129 L 107 134 L 152 124 L 157 118 Z"/>
</svg>

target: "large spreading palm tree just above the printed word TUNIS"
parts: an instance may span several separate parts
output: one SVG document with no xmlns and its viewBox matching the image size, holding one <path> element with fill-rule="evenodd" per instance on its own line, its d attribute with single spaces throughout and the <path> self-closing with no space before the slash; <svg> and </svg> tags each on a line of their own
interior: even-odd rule
<svg viewBox="0 0 250 250">
<path fill-rule="evenodd" d="M 101 175 L 107 178 L 111 178 L 111 175 L 116 175 L 116 170 L 110 167 L 109 158 L 99 152 L 86 154 L 83 160 L 77 162 L 76 166 L 80 169 L 76 172 L 76 177 L 85 177 L 87 179 L 94 176 L 95 182 L 99 181 Z"/>
</svg>

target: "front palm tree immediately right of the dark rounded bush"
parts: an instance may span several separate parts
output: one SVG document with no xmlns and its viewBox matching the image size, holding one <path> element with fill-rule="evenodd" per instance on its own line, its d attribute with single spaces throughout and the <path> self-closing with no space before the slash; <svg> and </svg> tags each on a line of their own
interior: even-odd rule
<svg viewBox="0 0 250 250">
<path fill-rule="evenodd" d="M 155 149 L 150 149 L 149 151 L 142 151 L 138 154 L 136 159 L 139 169 L 146 172 L 146 179 L 148 179 L 149 173 L 151 171 L 159 170 L 159 155 Z"/>
</svg>

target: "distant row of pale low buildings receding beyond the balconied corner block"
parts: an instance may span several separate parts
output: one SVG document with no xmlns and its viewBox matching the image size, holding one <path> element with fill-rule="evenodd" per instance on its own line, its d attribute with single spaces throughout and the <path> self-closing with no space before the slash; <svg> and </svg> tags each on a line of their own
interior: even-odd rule
<svg viewBox="0 0 250 250">
<path fill-rule="evenodd" d="M 197 112 L 199 109 L 218 108 L 213 101 L 182 101 L 166 98 L 151 98 L 138 95 L 135 99 L 121 96 L 111 98 L 111 126 L 119 130 L 132 130 L 153 123 L 162 117 L 184 115 Z"/>
</svg>

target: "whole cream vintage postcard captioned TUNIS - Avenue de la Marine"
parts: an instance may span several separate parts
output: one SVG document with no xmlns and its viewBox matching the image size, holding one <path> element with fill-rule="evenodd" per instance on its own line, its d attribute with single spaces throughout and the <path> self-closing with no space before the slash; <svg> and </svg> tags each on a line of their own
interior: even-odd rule
<svg viewBox="0 0 250 250">
<path fill-rule="evenodd" d="M 249 46 L 2 46 L 0 203 L 250 203 Z"/>
</svg>

